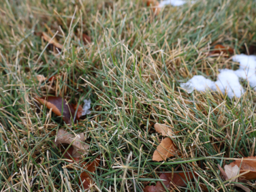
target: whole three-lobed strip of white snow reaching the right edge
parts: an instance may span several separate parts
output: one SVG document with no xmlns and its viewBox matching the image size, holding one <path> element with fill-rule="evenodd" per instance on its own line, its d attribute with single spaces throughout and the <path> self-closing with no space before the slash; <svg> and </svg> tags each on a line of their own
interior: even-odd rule
<svg viewBox="0 0 256 192">
<path fill-rule="evenodd" d="M 202 75 L 195 75 L 187 83 L 181 83 L 181 87 L 188 93 L 194 89 L 206 91 L 209 87 L 212 91 L 227 92 L 229 98 L 234 96 L 239 98 L 244 93 L 244 89 L 239 83 L 239 78 L 249 81 L 250 86 L 256 90 L 256 56 L 239 54 L 233 57 L 233 61 L 239 62 L 237 70 L 221 69 L 216 82 L 206 79 Z"/>
</svg>

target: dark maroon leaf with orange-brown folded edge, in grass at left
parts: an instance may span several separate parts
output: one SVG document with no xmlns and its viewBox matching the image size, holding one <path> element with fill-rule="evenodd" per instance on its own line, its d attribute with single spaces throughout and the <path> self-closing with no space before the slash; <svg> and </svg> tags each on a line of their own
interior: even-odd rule
<svg viewBox="0 0 256 192">
<path fill-rule="evenodd" d="M 52 109 L 53 113 L 55 113 L 58 116 L 61 116 L 62 111 L 62 103 L 63 103 L 63 121 L 65 121 L 67 124 L 70 124 L 71 122 L 71 116 L 74 118 L 75 110 L 72 105 L 67 103 L 65 99 L 62 99 L 60 97 L 52 97 L 48 96 L 42 97 L 42 98 L 35 98 L 37 101 L 45 105 L 48 109 Z"/>
</svg>

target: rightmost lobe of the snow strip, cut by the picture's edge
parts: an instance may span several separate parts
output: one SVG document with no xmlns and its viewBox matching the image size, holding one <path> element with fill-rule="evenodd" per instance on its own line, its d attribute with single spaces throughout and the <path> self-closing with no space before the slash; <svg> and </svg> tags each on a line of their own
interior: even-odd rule
<svg viewBox="0 0 256 192">
<path fill-rule="evenodd" d="M 252 88 L 256 87 L 256 56 L 255 55 L 235 55 L 233 61 L 239 62 L 239 69 L 235 71 L 235 74 L 243 79 L 249 81 L 249 84 Z"/>
</svg>

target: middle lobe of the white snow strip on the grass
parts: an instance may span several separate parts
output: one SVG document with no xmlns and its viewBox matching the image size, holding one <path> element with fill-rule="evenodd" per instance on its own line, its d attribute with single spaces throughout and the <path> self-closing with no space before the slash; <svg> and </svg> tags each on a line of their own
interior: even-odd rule
<svg viewBox="0 0 256 192">
<path fill-rule="evenodd" d="M 221 69 L 218 75 L 218 81 L 215 82 L 215 85 L 219 87 L 219 90 L 223 94 L 226 91 L 229 98 L 233 98 L 234 96 L 239 98 L 242 93 L 244 93 L 244 89 L 239 83 L 239 78 L 234 70 Z"/>
</svg>

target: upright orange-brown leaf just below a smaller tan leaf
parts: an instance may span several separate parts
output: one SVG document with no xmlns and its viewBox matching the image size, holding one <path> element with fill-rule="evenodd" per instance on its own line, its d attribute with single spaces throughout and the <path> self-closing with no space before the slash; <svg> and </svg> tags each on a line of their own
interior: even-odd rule
<svg viewBox="0 0 256 192">
<path fill-rule="evenodd" d="M 173 157 L 177 147 L 170 138 L 165 138 L 157 146 L 153 154 L 153 161 L 165 161 L 167 157 Z"/>
</svg>

